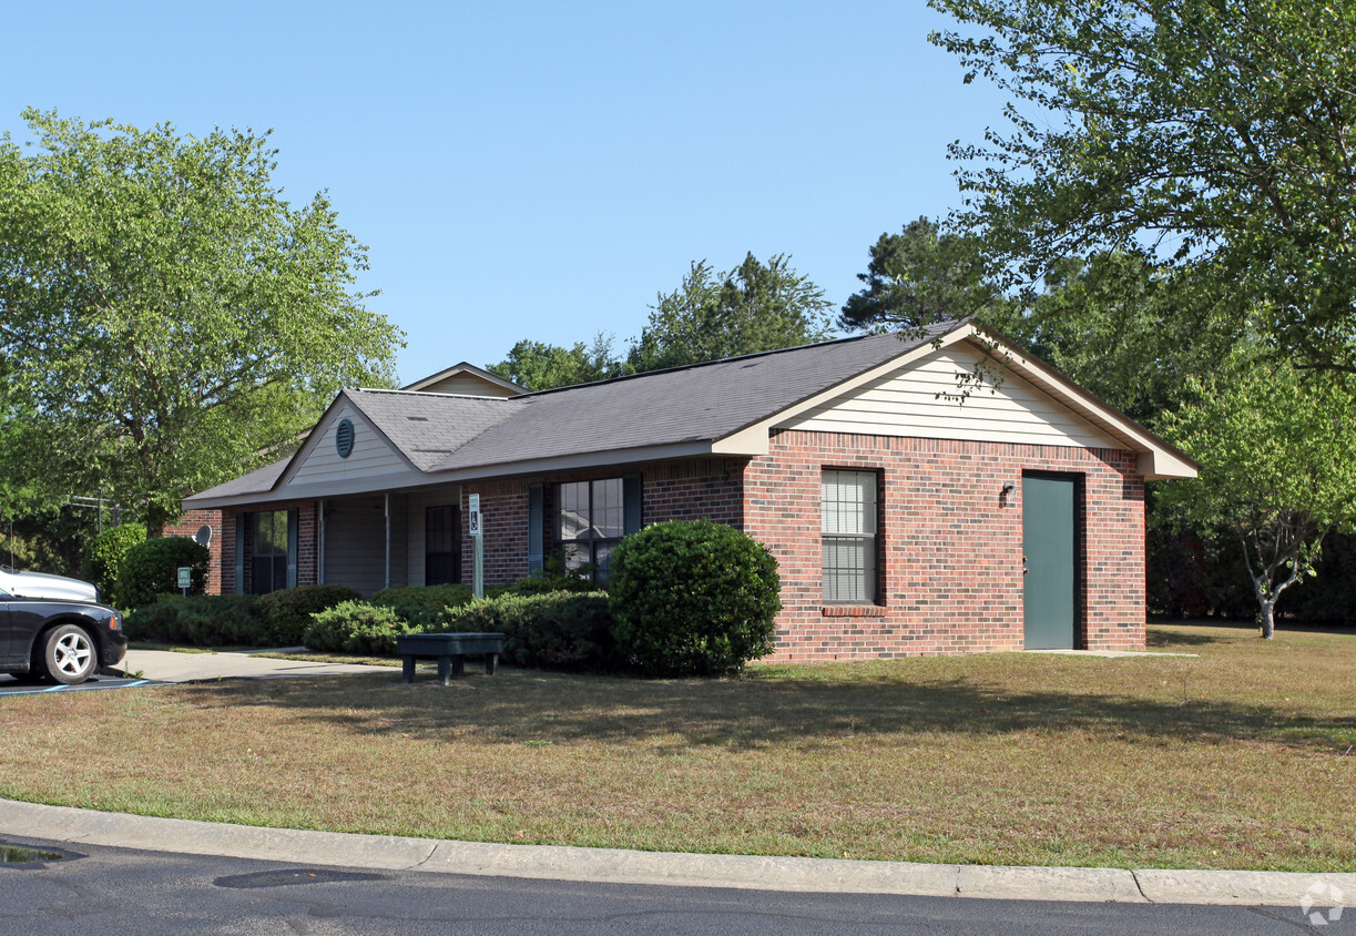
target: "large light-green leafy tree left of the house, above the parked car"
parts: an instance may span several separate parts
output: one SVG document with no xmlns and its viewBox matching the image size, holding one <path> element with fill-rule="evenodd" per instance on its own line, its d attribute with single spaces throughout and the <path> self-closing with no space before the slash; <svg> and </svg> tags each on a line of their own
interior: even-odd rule
<svg viewBox="0 0 1356 936">
<path fill-rule="evenodd" d="M 365 248 L 323 193 L 282 199 L 267 134 L 23 117 L 31 152 L 0 138 L 0 392 L 64 440 L 53 471 L 157 533 L 339 387 L 389 381 Z"/>
</svg>

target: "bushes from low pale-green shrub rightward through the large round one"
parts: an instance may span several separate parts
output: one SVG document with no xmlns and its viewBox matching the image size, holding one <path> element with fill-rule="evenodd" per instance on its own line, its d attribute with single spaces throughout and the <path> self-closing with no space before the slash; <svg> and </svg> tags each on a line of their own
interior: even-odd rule
<svg viewBox="0 0 1356 936">
<path fill-rule="evenodd" d="M 610 591 L 578 583 L 544 590 L 549 578 L 418 623 L 376 600 L 343 602 L 313 616 L 305 642 L 389 654 L 400 633 L 490 631 L 504 635 L 504 659 L 519 666 L 650 676 L 738 673 L 773 650 L 776 560 L 731 526 L 674 521 L 626 537 L 612 553 Z"/>
</svg>

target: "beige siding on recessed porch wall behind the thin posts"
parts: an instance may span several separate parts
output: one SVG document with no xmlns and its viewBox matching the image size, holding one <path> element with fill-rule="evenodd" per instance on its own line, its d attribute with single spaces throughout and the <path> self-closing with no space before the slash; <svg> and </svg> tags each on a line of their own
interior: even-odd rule
<svg viewBox="0 0 1356 936">
<path fill-rule="evenodd" d="M 407 579 L 404 495 L 391 496 L 391 583 Z M 363 596 L 386 585 L 386 514 L 382 495 L 325 501 L 325 582 Z"/>
</svg>

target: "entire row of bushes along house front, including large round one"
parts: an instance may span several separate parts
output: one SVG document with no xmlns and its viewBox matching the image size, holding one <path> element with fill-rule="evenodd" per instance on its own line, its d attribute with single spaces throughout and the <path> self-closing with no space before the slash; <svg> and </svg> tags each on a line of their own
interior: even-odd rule
<svg viewBox="0 0 1356 936">
<path fill-rule="evenodd" d="M 504 659 L 519 666 L 736 673 L 772 651 L 781 606 L 776 560 L 731 526 L 655 524 L 612 553 L 610 593 L 560 570 L 471 601 L 464 585 L 399 587 L 363 601 L 357 591 L 309 585 L 248 596 L 164 596 L 127 617 L 129 636 L 198 644 L 292 646 L 392 654 L 420 631 L 503 632 Z"/>
</svg>

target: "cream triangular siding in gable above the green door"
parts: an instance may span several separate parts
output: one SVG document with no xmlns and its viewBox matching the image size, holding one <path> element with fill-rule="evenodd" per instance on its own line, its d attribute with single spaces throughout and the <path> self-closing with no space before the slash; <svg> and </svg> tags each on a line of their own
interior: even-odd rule
<svg viewBox="0 0 1356 936">
<path fill-rule="evenodd" d="M 823 406 L 777 423 L 777 429 L 866 435 L 909 435 L 965 441 L 1121 448 L 1121 442 L 1055 403 L 1014 373 L 995 389 L 974 389 L 964 403 L 956 376 L 972 373 L 976 351 L 953 345 L 903 373 L 857 387 Z"/>
</svg>

